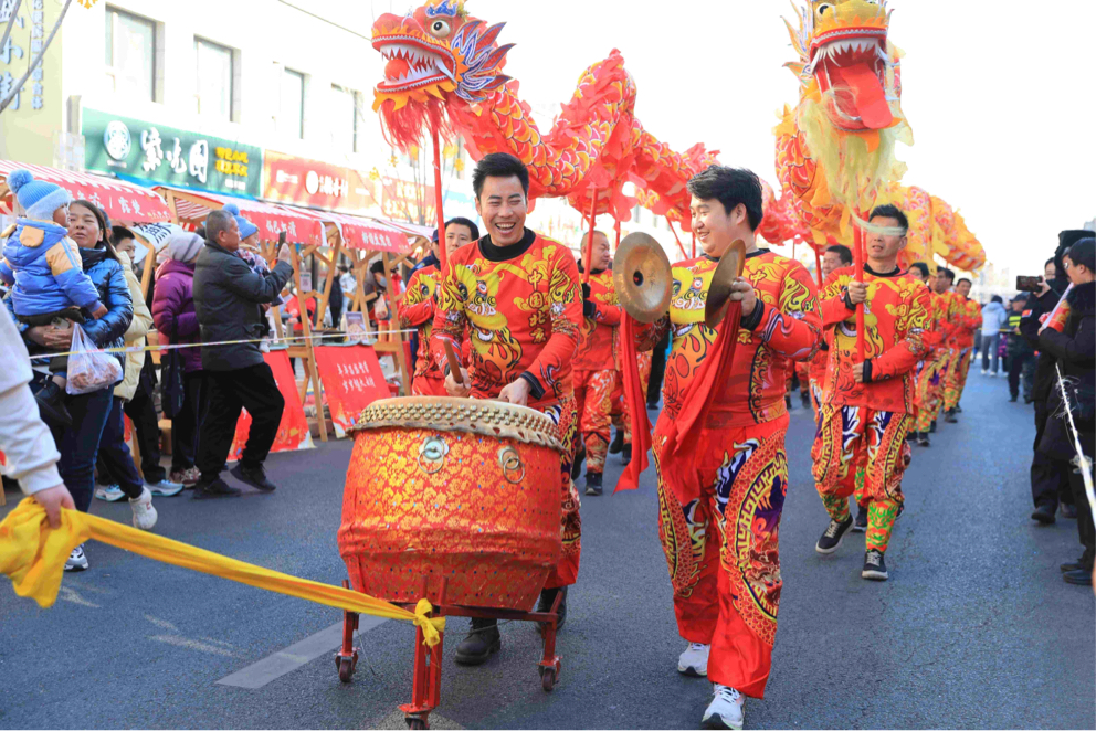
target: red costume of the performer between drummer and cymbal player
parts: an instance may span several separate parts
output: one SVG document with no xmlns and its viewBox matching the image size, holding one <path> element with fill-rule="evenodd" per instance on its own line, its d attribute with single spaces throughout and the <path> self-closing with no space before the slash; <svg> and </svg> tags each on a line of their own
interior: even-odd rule
<svg viewBox="0 0 1096 731">
<path fill-rule="evenodd" d="M 587 474 L 605 469 L 612 426 L 612 396 L 618 382 L 616 327 L 620 305 L 613 287 L 613 273 L 590 273 L 590 298 L 583 312 L 581 339 L 575 351 L 575 407 L 579 432 L 586 446 Z"/>
</svg>

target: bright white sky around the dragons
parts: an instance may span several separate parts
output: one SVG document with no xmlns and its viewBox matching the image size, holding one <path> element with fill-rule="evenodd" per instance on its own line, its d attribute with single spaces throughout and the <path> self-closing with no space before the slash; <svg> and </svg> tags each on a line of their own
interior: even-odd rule
<svg viewBox="0 0 1096 731">
<path fill-rule="evenodd" d="M 797 6 L 800 3 L 795 3 Z M 505 21 L 506 72 L 534 108 L 558 110 L 579 74 L 619 49 L 637 87 L 635 115 L 674 149 L 695 142 L 779 189 L 772 127 L 794 105 L 795 61 L 781 0 L 467 0 Z M 1062 229 L 1096 219 L 1096 2 L 888 0 L 889 38 L 906 52 L 903 182 L 958 209 L 998 267 L 1040 274 Z M 365 12 L 411 3 L 372 0 Z M 359 10 L 360 12 L 360 10 Z M 550 125 L 542 120 L 542 128 Z"/>
</svg>

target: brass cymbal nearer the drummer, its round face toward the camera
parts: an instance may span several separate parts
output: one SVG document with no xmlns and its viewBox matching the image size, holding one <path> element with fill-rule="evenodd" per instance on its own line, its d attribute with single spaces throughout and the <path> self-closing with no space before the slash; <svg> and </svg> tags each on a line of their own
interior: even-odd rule
<svg viewBox="0 0 1096 731">
<path fill-rule="evenodd" d="M 649 234 L 624 236 L 613 257 L 613 285 L 621 306 L 640 322 L 654 322 L 670 307 L 670 258 Z"/>
</svg>

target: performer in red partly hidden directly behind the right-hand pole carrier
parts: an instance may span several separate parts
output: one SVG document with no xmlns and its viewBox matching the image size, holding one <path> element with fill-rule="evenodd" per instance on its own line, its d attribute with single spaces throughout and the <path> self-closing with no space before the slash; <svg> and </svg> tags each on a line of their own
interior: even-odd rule
<svg viewBox="0 0 1096 731">
<path fill-rule="evenodd" d="M 929 319 L 925 325 L 925 333 L 921 338 L 927 352 L 921 362 L 917 364 L 914 428 L 909 433 L 918 445 L 927 447 L 931 444 L 928 434 L 940 413 L 940 406 L 944 404 L 944 378 L 949 362 L 947 340 L 951 335 L 951 325 L 948 322 L 948 306 L 951 300 L 949 296 L 940 294 L 938 290 L 938 287 L 946 286 L 938 283 L 947 282 L 947 279 L 929 274 L 928 264 L 925 262 L 914 262 L 909 267 L 909 274 L 925 285 L 930 301 Z"/>
</svg>

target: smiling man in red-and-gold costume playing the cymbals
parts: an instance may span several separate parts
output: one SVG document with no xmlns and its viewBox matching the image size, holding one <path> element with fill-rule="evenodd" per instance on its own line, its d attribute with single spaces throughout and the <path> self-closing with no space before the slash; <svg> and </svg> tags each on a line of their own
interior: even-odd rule
<svg viewBox="0 0 1096 731">
<path fill-rule="evenodd" d="M 783 585 L 778 536 L 788 488 L 786 373 L 793 360 L 814 354 L 821 319 L 807 268 L 757 246 L 762 208 L 756 174 L 713 166 L 689 180 L 688 191 L 704 256 L 673 266 L 670 311 L 639 328 L 635 339 L 639 350 L 650 350 L 667 329 L 673 332 L 652 449 L 658 534 L 678 632 L 688 642 L 677 669 L 714 684 L 706 728 L 741 729 L 744 696 L 765 695 Z M 713 359 L 721 353 L 717 331 L 704 322 L 705 303 L 719 257 L 738 239 L 746 242 L 746 266 L 730 298 L 741 304 L 741 321 L 729 375 L 720 382 L 708 380 L 709 369 L 720 372 Z M 728 319 L 723 327 L 730 325 Z M 703 421 L 671 437 L 697 399 L 705 403 L 697 417 Z M 687 457 L 666 448 L 671 438 L 686 446 Z"/>
</svg>

